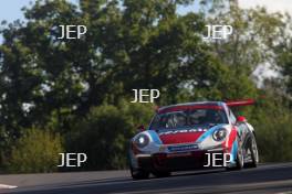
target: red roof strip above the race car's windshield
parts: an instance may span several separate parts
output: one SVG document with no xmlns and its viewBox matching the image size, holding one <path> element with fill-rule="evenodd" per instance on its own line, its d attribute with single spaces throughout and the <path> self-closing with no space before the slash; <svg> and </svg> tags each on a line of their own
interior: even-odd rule
<svg viewBox="0 0 292 194">
<path fill-rule="evenodd" d="M 179 111 L 185 109 L 196 109 L 196 108 L 210 108 L 210 109 L 222 109 L 225 103 L 222 101 L 196 101 L 196 103 L 186 103 L 186 104 L 176 104 L 165 107 L 160 107 L 157 112 L 164 114 L 168 111 Z"/>
</svg>

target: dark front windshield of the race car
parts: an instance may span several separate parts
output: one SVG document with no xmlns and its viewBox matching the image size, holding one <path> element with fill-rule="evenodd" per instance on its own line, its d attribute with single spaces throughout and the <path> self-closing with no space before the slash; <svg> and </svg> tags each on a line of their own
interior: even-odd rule
<svg viewBox="0 0 292 194">
<path fill-rule="evenodd" d="M 174 129 L 197 125 L 228 123 L 226 114 L 220 109 L 191 109 L 158 114 L 155 116 L 152 129 Z"/>
</svg>

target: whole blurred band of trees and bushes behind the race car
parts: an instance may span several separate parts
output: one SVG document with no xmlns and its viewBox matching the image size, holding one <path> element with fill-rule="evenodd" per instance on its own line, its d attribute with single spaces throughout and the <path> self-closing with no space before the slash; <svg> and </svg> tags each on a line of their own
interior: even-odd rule
<svg viewBox="0 0 292 194">
<path fill-rule="evenodd" d="M 254 98 L 241 109 L 254 126 L 261 162 L 292 161 L 292 45 L 289 14 L 204 0 L 40 0 L 27 22 L 0 33 L 0 171 L 56 171 L 60 152 L 85 152 L 77 170 L 127 168 L 128 140 L 155 106 Z M 58 25 L 83 24 L 80 40 Z M 206 24 L 229 24 L 227 40 L 205 41 Z M 277 76 L 259 79 L 269 65 Z M 161 93 L 131 104 L 132 89 Z M 60 171 L 76 169 L 59 169 Z"/>
</svg>

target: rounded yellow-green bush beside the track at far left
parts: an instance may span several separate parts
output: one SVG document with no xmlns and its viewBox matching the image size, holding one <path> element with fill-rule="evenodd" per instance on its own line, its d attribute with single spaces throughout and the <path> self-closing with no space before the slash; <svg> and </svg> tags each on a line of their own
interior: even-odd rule
<svg viewBox="0 0 292 194">
<path fill-rule="evenodd" d="M 31 128 L 18 139 L 12 148 L 8 170 L 18 173 L 56 171 L 59 153 L 62 151 L 59 134 L 39 128 Z"/>
</svg>

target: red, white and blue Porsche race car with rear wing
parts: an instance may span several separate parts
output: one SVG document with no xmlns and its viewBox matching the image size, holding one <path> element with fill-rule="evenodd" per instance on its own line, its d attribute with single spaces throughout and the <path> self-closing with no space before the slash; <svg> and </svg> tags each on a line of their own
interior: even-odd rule
<svg viewBox="0 0 292 194">
<path fill-rule="evenodd" d="M 174 171 L 255 168 L 259 162 L 253 127 L 230 107 L 254 101 L 201 101 L 161 107 L 148 129 L 131 140 L 129 170 L 135 180 L 163 177 Z"/>
</svg>

